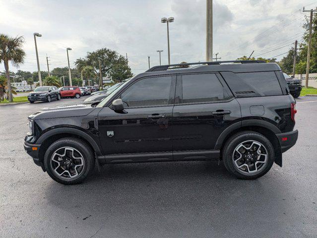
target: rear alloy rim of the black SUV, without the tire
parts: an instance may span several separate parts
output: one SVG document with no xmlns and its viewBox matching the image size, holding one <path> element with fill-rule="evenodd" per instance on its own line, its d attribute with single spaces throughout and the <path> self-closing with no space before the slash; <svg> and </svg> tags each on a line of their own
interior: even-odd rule
<svg viewBox="0 0 317 238">
<path fill-rule="evenodd" d="M 244 174 L 262 170 L 267 162 L 267 150 L 258 141 L 247 140 L 240 143 L 232 156 L 235 167 Z"/>
</svg>

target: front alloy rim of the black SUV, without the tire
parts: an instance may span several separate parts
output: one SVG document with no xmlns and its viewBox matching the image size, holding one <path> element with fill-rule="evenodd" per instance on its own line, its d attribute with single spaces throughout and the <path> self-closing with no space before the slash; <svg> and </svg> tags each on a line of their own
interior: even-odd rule
<svg viewBox="0 0 317 238">
<path fill-rule="evenodd" d="M 85 162 L 81 153 L 75 148 L 62 147 L 53 153 L 51 166 L 59 177 L 73 179 L 81 175 Z"/>
</svg>

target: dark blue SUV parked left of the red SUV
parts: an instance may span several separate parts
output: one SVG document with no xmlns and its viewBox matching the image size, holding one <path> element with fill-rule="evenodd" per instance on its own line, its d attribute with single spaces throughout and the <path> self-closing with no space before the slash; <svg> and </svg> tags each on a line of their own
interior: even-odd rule
<svg viewBox="0 0 317 238">
<path fill-rule="evenodd" d="M 56 86 L 41 86 L 34 89 L 27 96 L 30 103 L 35 101 L 51 102 L 52 100 L 61 100 L 61 94 Z"/>
</svg>

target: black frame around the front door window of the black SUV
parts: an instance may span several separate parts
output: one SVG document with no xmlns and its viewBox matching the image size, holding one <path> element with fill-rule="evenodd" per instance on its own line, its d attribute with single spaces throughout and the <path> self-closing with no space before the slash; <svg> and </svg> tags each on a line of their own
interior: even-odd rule
<svg viewBox="0 0 317 238">
<path fill-rule="evenodd" d="M 127 107 L 125 109 L 135 109 L 135 108 L 157 108 L 157 107 L 170 107 L 174 105 L 174 100 L 175 100 L 175 88 L 176 88 L 176 76 L 177 74 L 164 74 L 164 75 L 151 75 L 151 76 L 145 76 L 145 77 L 141 77 L 138 78 L 136 80 L 134 80 L 133 82 L 131 82 L 129 85 L 127 85 L 127 87 L 125 87 L 121 92 L 118 92 L 118 95 L 114 96 L 113 100 L 110 100 L 111 103 L 116 100 L 121 98 L 121 95 L 129 88 L 131 87 L 134 83 L 143 80 L 143 79 L 147 79 L 147 78 L 158 78 L 158 77 L 171 77 L 171 85 L 170 85 L 170 91 L 169 91 L 169 95 L 168 95 L 168 100 L 167 103 L 168 104 L 161 104 L 161 105 L 152 105 L 152 106 L 137 106 L 137 107 Z M 111 103 L 107 106 L 110 107 Z"/>
</svg>

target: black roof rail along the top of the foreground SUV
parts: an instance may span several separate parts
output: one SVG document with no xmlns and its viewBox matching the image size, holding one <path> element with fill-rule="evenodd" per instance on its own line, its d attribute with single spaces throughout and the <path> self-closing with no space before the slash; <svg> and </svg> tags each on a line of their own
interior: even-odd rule
<svg viewBox="0 0 317 238">
<path fill-rule="evenodd" d="M 193 64 L 208 64 L 208 65 L 217 65 L 221 63 L 265 63 L 263 60 L 229 60 L 229 61 L 213 61 L 213 62 L 194 62 L 194 63 L 178 63 L 178 64 L 167 64 L 167 65 L 158 65 L 149 68 L 145 72 L 154 72 L 154 71 L 166 71 L 168 69 L 181 68 L 181 66 L 189 66 Z M 177 67 L 179 66 L 179 67 Z M 174 67 L 174 68 L 170 68 Z M 184 67 L 185 68 L 185 67 Z"/>
</svg>

